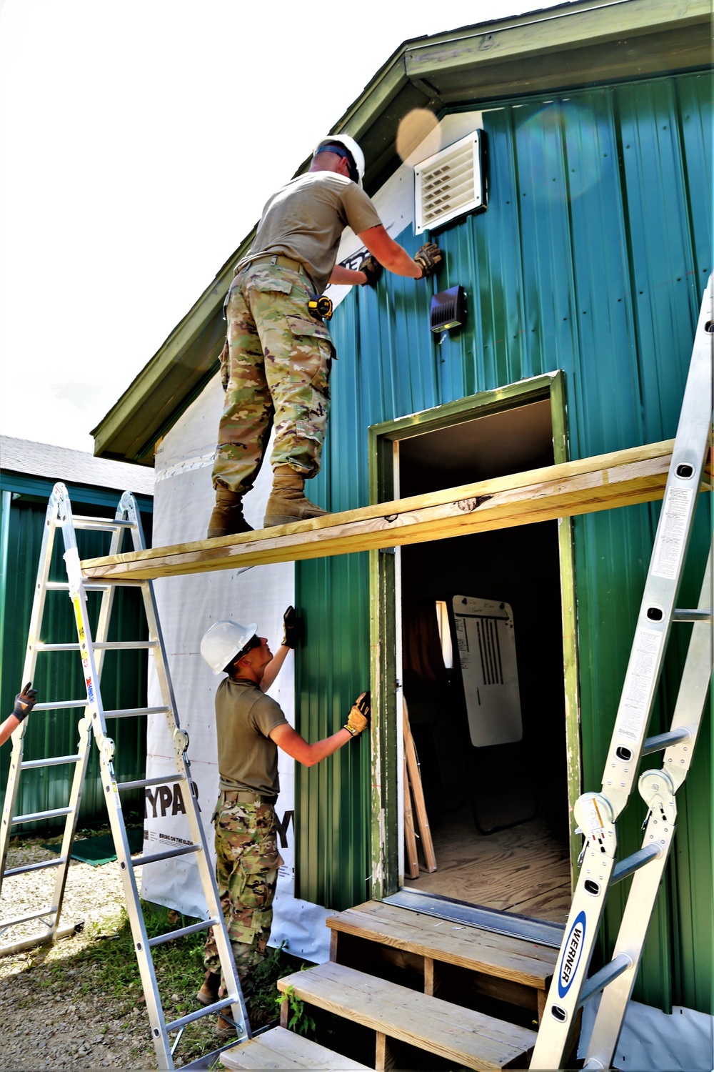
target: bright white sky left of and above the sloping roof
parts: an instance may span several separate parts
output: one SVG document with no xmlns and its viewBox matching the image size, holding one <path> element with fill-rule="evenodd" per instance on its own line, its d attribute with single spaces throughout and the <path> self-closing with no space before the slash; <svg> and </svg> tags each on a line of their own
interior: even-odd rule
<svg viewBox="0 0 714 1072">
<path fill-rule="evenodd" d="M 89 431 L 402 41 L 548 0 L 0 0 L 0 431 Z"/>
</svg>

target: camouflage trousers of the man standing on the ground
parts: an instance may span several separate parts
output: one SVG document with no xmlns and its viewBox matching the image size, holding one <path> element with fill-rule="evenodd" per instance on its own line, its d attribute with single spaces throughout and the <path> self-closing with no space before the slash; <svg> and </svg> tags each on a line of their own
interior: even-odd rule
<svg viewBox="0 0 714 1072">
<path fill-rule="evenodd" d="M 245 995 L 250 991 L 250 971 L 265 955 L 277 869 L 283 859 L 277 851 L 272 804 L 241 804 L 236 798 L 234 792 L 222 791 L 212 821 L 218 896 Z M 208 971 L 221 973 L 212 929 L 203 963 Z"/>
</svg>

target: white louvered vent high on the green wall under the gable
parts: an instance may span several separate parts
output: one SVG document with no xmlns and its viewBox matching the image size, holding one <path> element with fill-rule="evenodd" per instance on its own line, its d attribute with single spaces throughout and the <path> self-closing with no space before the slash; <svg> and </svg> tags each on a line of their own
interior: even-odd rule
<svg viewBox="0 0 714 1072">
<path fill-rule="evenodd" d="M 416 234 L 485 208 L 481 132 L 474 131 L 427 157 L 414 168 Z"/>
</svg>

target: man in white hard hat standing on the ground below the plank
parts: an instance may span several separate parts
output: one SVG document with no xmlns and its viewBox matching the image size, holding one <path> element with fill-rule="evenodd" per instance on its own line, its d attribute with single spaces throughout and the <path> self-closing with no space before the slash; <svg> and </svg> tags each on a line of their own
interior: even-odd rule
<svg viewBox="0 0 714 1072">
<path fill-rule="evenodd" d="M 294 612 L 289 617 L 290 611 L 292 608 L 286 612 L 284 644 L 289 640 L 288 629 L 295 628 Z M 244 995 L 250 992 L 252 970 L 265 955 L 277 870 L 283 863 L 273 807 L 279 792 L 277 749 L 313 766 L 358 736 L 369 720 L 369 695 L 362 693 L 343 729 L 308 744 L 261 688 L 267 673 L 274 679 L 278 660 L 257 628 L 255 623 L 216 622 L 200 645 L 213 673 L 227 675 L 215 696 L 219 791 L 212 821 L 218 895 Z M 206 979 L 196 996 L 203 1004 L 212 1004 L 219 1000 L 222 982 L 212 930 L 203 963 Z M 230 1009 L 225 1013 L 230 1016 Z M 216 1033 L 228 1038 L 236 1030 L 221 1016 Z"/>
</svg>

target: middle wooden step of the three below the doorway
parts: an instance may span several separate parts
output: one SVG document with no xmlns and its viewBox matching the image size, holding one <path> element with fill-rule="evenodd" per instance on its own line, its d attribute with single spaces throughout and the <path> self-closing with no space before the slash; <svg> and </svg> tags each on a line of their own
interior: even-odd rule
<svg viewBox="0 0 714 1072">
<path fill-rule="evenodd" d="M 376 1031 L 375 1068 L 380 1070 L 393 1064 L 390 1040 L 437 1054 L 457 1067 L 483 1072 L 527 1068 L 535 1043 L 535 1031 L 528 1028 L 330 961 L 278 979 L 279 991 L 285 993 L 288 987 L 302 1001 Z M 282 1010 L 287 1017 L 287 1002 Z"/>
</svg>

